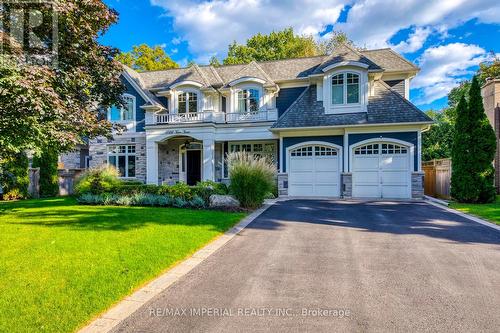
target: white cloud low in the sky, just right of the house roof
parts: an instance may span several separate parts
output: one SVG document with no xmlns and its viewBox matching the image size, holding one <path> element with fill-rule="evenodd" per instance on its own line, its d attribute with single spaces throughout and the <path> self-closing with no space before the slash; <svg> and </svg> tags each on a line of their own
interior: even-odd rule
<svg viewBox="0 0 500 333">
<path fill-rule="evenodd" d="M 488 57 L 487 52 L 477 45 L 452 43 L 428 48 L 418 59 L 422 70 L 411 84 L 412 88 L 421 90 L 415 102 L 428 104 L 445 97 Z"/>
</svg>

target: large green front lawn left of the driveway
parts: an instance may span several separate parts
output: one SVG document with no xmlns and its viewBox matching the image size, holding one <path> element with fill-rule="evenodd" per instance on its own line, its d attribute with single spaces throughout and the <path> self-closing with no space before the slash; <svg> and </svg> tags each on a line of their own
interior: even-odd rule
<svg viewBox="0 0 500 333">
<path fill-rule="evenodd" d="M 1 202 L 0 332 L 74 331 L 244 215 Z"/>
</svg>

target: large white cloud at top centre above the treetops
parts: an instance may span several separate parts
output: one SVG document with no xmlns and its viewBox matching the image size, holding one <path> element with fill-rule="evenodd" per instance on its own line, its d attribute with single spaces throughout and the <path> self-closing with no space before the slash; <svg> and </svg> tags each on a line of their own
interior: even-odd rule
<svg viewBox="0 0 500 333">
<path fill-rule="evenodd" d="M 198 57 L 222 55 L 236 40 L 291 26 L 299 34 L 318 36 L 334 24 L 350 0 L 151 0 L 174 18 L 174 28 Z"/>
</svg>

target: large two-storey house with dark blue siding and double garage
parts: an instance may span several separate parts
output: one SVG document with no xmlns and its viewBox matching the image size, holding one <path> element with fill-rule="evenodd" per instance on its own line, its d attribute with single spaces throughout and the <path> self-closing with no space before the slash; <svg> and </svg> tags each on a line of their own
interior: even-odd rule
<svg viewBox="0 0 500 333">
<path fill-rule="evenodd" d="M 418 68 L 390 49 L 137 73 L 126 68 L 127 128 L 92 140 L 90 166 L 149 184 L 226 181 L 225 156 L 271 158 L 280 195 L 417 198 L 421 132 L 408 101 Z"/>
</svg>

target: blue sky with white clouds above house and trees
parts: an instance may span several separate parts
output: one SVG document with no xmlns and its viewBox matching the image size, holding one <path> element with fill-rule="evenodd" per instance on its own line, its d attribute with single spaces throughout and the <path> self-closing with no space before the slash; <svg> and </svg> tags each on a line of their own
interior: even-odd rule
<svg viewBox="0 0 500 333">
<path fill-rule="evenodd" d="M 224 58 L 233 40 L 292 26 L 297 33 L 328 38 L 345 31 L 358 45 L 392 47 L 421 72 L 411 100 L 440 109 L 446 95 L 477 65 L 500 53 L 498 0 L 104 0 L 120 13 L 101 38 L 129 51 L 161 45 L 181 65 Z"/>
</svg>

